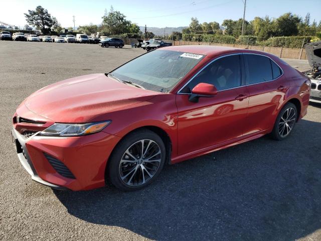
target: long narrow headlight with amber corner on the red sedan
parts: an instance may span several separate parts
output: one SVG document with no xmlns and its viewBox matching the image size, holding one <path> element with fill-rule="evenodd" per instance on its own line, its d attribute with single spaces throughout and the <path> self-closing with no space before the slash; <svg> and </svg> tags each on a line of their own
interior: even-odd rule
<svg viewBox="0 0 321 241">
<path fill-rule="evenodd" d="M 105 122 L 94 122 L 85 124 L 64 124 L 55 123 L 42 131 L 39 135 L 41 136 L 60 136 L 60 137 L 74 137 L 83 136 L 96 132 L 100 132 L 102 129 L 107 127 L 111 121 Z"/>
</svg>

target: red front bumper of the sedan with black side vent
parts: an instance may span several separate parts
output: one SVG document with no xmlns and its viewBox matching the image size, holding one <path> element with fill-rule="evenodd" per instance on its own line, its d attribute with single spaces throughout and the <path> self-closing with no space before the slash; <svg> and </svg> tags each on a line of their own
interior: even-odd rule
<svg viewBox="0 0 321 241">
<path fill-rule="evenodd" d="M 52 188 L 74 191 L 105 185 L 106 163 L 120 140 L 105 132 L 65 138 L 34 134 L 25 138 L 15 128 L 12 129 L 12 136 L 18 158 L 34 181 Z M 62 174 L 47 155 L 59 161 L 58 165 L 63 165 L 74 177 Z"/>
</svg>

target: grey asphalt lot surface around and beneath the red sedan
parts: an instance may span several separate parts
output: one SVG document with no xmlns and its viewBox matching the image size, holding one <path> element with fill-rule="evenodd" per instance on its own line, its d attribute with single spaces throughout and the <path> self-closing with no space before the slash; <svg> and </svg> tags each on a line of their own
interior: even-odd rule
<svg viewBox="0 0 321 241">
<path fill-rule="evenodd" d="M 106 72 L 142 53 L 0 42 L 0 239 L 320 240 L 320 105 L 310 105 L 282 142 L 263 137 L 166 166 L 140 191 L 57 191 L 31 180 L 10 136 L 19 103 L 43 86 Z"/>
</svg>

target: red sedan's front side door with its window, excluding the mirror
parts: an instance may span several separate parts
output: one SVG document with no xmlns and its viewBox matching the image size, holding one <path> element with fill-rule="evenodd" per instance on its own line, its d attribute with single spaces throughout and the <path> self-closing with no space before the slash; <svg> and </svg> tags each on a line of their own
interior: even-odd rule
<svg viewBox="0 0 321 241">
<path fill-rule="evenodd" d="M 241 54 L 215 59 L 178 92 L 179 155 L 242 137 L 248 96 L 241 60 Z M 191 90 L 199 83 L 214 84 L 217 95 L 191 102 Z"/>
</svg>

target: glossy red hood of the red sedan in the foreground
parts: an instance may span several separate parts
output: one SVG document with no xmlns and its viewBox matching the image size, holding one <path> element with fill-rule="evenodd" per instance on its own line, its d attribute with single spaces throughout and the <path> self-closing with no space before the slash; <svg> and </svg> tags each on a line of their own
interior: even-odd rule
<svg viewBox="0 0 321 241">
<path fill-rule="evenodd" d="M 52 122 L 85 123 L 97 115 L 145 104 L 161 93 L 140 89 L 105 74 L 74 77 L 44 87 L 30 95 L 17 114 Z"/>
</svg>

